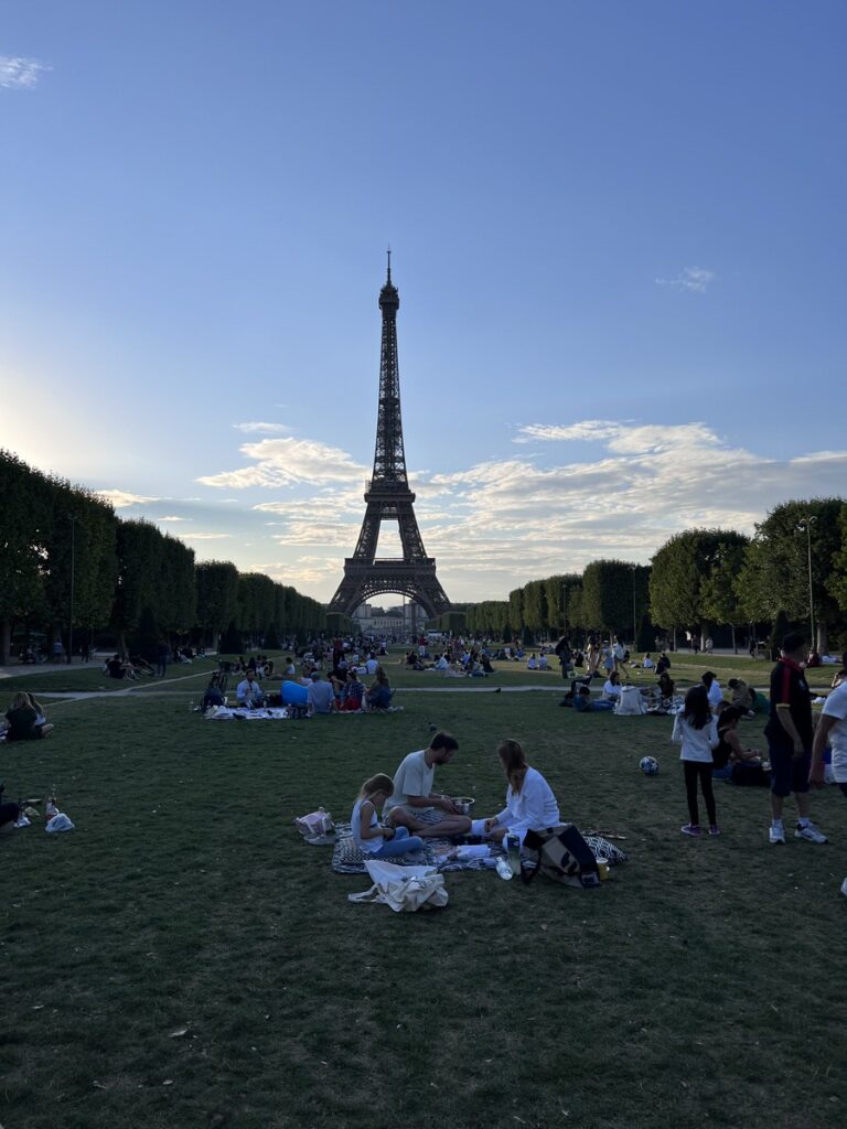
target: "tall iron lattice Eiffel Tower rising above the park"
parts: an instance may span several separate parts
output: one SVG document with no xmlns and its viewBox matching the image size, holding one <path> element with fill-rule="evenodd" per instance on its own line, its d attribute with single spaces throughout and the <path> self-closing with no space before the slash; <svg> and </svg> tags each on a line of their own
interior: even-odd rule
<svg viewBox="0 0 847 1129">
<path fill-rule="evenodd" d="M 352 557 L 344 560 L 344 578 L 330 601 L 328 612 L 352 615 L 356 609 L 382 593 L 408 596 L 426 611 L 439 615 L 449 601 L 435 575 L 435 558 L 427 557 L 414 517 L 414 493 L 409 489 L 400 417 L 398 369 L 398 309 L 400 295 L 388 275 L 379 291 L 383 338 L 379 353 L 379 413 L 376 421 L 374 474 L 365 491 L 365 519 Z M 377 558 L 376 546 L 383 522 L 396 522 L 403 555 Z"/>
</svg>

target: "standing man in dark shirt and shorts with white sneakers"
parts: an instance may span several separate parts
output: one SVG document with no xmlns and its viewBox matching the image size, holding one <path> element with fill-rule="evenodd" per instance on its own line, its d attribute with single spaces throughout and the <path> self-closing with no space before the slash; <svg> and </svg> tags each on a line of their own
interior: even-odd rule
<svg viewBox="0 0 847 1129">
<path fill-rule="evenodd" d="M 770 717 L 765 727 L 770 753 L 771 843 L 785 842 L 783 804 L 794 793 L 797 800 L 795 839 L 826 843 L 827 837 L 809 819 L 809 769 L 812 763 L 812 693 L 801 665 L 805 639 L 792 631 L 785 639 L 770 674 Z"/>
</svg>

